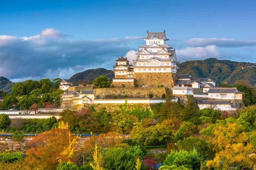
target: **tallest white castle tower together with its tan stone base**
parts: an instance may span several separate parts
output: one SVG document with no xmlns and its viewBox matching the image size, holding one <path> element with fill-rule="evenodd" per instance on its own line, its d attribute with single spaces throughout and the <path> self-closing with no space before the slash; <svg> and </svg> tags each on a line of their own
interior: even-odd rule
<svg viewBox="0 0 256 170">
<path fill-rule="evenodd" d="M 137 59 L 133 60 L 135 83 L 140 86 L 173 87 L 176 77 L 177 61 L 175 48 L 167 45 L 165 31 L 148 32 L 143 38 L 146 44 L 139 46 Z"/>
</svg>

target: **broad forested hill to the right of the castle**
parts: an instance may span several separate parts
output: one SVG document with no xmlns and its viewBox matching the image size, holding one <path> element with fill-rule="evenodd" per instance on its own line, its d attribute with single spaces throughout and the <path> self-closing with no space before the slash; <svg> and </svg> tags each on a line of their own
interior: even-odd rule
<svg viewBox="0 0 256 170">
<path fill-rule="evenodd" d="M 245 79 L 256 85 L 255 63 L 236 62 L 209 58 L 205 60 L 186 61 L 179 64 L 177 74 L 191 74 L 192 77 L 211 77 L 216 82 L 233 84 L 236 80 Z M 247 67 L 249 66 L 249 67 Z"/>
</svg>

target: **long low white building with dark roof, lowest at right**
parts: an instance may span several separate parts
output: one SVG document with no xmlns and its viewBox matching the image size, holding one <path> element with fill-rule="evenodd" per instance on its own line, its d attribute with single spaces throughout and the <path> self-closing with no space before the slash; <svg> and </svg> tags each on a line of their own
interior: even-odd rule
<svg viewBox="0 0 256 170">
<path fill-rule="evenodd" d="M 214 108 L 220 109 L 221 111 L 236 111 L 236 108 L 231 107 L 229 100 L 199 100 L 197 105 L 199 109 Z"/>
</svg>

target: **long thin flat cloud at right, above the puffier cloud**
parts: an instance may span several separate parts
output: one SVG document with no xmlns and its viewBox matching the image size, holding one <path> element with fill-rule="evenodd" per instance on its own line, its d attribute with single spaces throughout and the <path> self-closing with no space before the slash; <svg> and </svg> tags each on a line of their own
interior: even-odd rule
<svg viewBox="0 0 256 170">
<path fill-rule="evenodd" d="M 191 46 L 216 45 L 219 47 L 243 47 L 256 45 L 256 40 L 235 40 L 227 38 L 193 38 L 187 41 Z"/>
</svg>

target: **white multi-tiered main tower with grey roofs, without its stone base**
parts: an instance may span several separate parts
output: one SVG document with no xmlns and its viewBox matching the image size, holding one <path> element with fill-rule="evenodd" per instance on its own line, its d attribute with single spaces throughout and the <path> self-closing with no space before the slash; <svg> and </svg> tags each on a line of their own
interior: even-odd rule
<svg viewBox="0 0 256 170">
<path fill-rule="evenodd" d="M 137 59 L 133 60 L 134 73 L 176 73 L 177 58 L 175 48 L 165 44 L 169 39 L 163 32 L 148 32 L 143 38 L 145 45 L 139 46 Z"/>
</svg>

